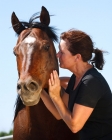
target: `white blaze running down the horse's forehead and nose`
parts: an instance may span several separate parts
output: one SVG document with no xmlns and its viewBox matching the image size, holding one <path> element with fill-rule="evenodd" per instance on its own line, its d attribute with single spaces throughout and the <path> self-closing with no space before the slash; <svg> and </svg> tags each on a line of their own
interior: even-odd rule
<svg viewBox="0 0 112 140">
<path fill-rule="evenodd" d="M 23 59 L 22 67 L 24 67 L 26 64 L 25 69 L 23 69 L 24 73 L 28 71 L 29 66 L 31 64 L 31 54 L 34 49 L 34 47 L 32 47 L 32 44 L 34 44 L 35 41 L 36 41 L 36 38 L 32 36 L 28 36 L 27 38 L 24 39 L 24 43 L 27 44 L 25 46 L 26 48 L 22 49 L 22 53 L 27 55 L 27 56 L 23 55 L 24 59 Z M 27 53 L 25 53 L 24 50 L 27 50 Z"/>
</svg>

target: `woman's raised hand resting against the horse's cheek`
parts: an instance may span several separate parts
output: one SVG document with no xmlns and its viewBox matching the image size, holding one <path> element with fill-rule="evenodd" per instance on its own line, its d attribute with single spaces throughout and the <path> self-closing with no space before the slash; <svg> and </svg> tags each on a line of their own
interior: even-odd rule
<svg viewBox="0 0 112 140">
<path fill-rule="evenodd" d="M 53 70 L 49 79 L 49 95 L 52 99 L 58 99 L 60 98 L 60 91 L 61 91 L 60 79 L 57 71 Z"/>
</svg>

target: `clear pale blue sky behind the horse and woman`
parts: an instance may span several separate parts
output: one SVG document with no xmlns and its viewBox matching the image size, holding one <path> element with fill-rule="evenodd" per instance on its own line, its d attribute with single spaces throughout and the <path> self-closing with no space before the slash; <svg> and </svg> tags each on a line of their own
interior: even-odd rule
<svg viewBox="0 0 112 140">
<path fill-rule="evenodd" d="M 18 79 L 13 47 L 17 36 L 11 27 L 11 14 L 28 21 L 32 14 L 45 6 L 51 17 L 50 26 L 58 28 L 57 33 L 71 28 L 82 30 L 93 39 L 95 47 L 108 51 L 106 64 L 101 73 L 112 89 L 112 0 L 2 0 L 0 2 L 0 131 L 13 128 L 14 104 L 17 96 Z M 58 43 L 55 44 L 58 51 Z M 70 76 L 60 69 L 60 76 Z"/>
</svg>

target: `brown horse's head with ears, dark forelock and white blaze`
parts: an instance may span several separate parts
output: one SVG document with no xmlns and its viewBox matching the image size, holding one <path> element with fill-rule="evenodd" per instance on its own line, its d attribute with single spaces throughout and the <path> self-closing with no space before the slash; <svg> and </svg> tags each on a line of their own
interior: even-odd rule
<svg viewBox="0 0 112 140">
<path fill-rule="evenodd" d="M 43 88 L 48 88 L 50 73 L 58 71 L 58 61 L 53 41 L 57 36 L 52 27 L 49 27 L 50 16 L 42 6 L 40 22 L 34 22 L 37 16 L 33 15 L 29 23 L 20 22 L 15 13 L 11 21 L 14 31 L 19 35 L 14 47 L 17 59 L 19 80 L 17 92 L 27 106 L 39 102 Z"/>
</svg>

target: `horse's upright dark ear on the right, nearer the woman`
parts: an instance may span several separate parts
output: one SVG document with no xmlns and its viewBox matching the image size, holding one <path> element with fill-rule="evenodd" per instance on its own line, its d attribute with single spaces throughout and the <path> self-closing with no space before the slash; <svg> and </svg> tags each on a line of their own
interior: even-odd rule
<svg viewBox="0 0 112 140">
<path fill-rule="evenodd" d="M 42 9 L 41 9 L 40 21 L 41 21 L 41 23 L 46 24 L 47 26 L 50 23 L 49 12 L 47 11 L 47 9 L 44 6 L 42 6 Z"/>
</svg>

